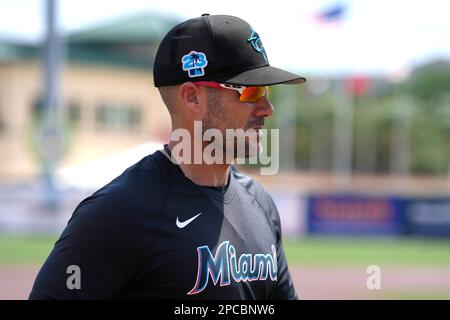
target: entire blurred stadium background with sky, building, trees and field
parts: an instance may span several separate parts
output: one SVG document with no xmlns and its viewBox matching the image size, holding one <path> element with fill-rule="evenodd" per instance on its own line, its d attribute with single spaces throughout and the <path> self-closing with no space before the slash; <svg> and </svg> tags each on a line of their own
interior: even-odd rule
<svg viewBox="0 0 450 320">
<path fill-rule="evenodd" d="M 277 86 L 278 205 L 305 299 L 450 299 L 450 22 L 443 1 L 0 0 L 0 299 L 26 299 L 76 205 L 169 139 L 162 37 L 247 20 Z M 369 289 L 367 268 L 380 268 Z"/>
</svg>

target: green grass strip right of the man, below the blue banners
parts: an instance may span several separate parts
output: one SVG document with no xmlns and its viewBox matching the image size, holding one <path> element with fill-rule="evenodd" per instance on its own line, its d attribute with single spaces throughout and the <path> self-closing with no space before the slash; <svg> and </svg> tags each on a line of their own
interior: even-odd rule
<svg viewBox="0 0 450 320">
<path fill-rule="evenodd" d="M 305 238 L 287 240 L 284 248 L 294 265 L 450 267 L 450 239 Z"/>
</svg>

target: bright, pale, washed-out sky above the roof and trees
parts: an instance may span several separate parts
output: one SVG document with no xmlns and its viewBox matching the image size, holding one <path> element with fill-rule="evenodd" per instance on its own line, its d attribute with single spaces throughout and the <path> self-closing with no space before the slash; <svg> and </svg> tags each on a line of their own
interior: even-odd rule
<svg viewBox="0 0 450 320">
<path fill-rule="evenodd" d="M 347 6 L 337 26 L 312 21 L 321 8 Z M 39 41 L 44 0 L 0 0 L 0 38 Z M 158 11 L 181 19 L 231 14 L 247 20 L 272 65 L 333 75 L 394 75 L 435 58 L 450 59 L 450 4 L 443 0 L 179 1 L 60 0 L 60 25 L 76 30 L 120 15 Z"/>
</svg>

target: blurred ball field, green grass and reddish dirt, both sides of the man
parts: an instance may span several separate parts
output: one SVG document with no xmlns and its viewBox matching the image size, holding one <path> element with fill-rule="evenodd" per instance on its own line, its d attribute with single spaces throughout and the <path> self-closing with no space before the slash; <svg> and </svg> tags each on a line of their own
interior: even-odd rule
<svg viewBox="0 0 450 320">
<path fill-rule="evenodd" d="M 56 235 L 0 235 L 0 300 L 26 299 Z M 450 239 L 303 238 L 284 247 L 302 299 L 450 299 Z M 382 268 L 382 290 L 366 267 Z"/>
</svg>

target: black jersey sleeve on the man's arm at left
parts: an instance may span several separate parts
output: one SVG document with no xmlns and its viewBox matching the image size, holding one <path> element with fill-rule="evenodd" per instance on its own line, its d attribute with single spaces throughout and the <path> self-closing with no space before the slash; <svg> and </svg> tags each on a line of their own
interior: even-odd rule
<svg viewBox="0 0 450 320">
<path fill-rule="evenodd" d="M 75 209 L 29 299 L 117 299 L 147 265 L 142 223 L 114 194 Z"/>
</svg>

